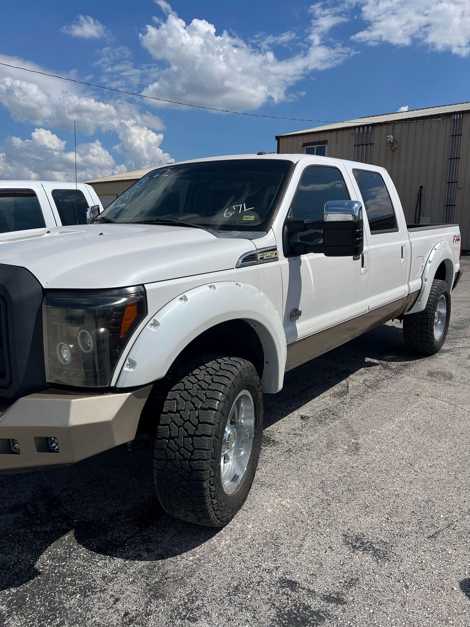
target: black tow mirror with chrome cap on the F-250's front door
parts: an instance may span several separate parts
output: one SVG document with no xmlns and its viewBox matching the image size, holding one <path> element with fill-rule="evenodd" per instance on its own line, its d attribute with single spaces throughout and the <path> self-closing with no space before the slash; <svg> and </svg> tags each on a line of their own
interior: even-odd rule
<svg viewBox="0 0 470 627">
<path fill-rule="evenodd" d="M 323 222 L 291 220 L 286 226 L 290 250 L 295 255 L 352 257 L 363 251 L 362 204 L 358 201 L 328 201 Z"/>
</svg>

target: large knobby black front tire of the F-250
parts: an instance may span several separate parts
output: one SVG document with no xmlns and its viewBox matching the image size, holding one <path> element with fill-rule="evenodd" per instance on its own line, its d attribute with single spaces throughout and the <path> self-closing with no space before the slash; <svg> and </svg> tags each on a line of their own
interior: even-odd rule
<svg viewBox="0 0 470 627">
<path fill-rule="evenodd" d="M 253 398 L 253 446 L 238 488 L 227 494 L 221 480 L 222 440 L 241 390 Z M 165 511 L 212 527 L 230 522 L 253 483 L 262 432 L 263 396 L 251 362 L 214 355 L 188 362 L 165 400 L 155 440 L 155 488 Z"/>
</svg>

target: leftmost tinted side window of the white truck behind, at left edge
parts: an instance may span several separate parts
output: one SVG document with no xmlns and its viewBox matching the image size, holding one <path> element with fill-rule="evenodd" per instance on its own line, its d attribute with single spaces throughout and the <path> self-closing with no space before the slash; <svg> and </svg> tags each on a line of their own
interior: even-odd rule
<svg viewBox="0 0 470 627">
<path fill-rule="evenodd" d="M 40 229 L 44 226 L 33 192 L 0 191 L 0 233 Z"/>
</svg>

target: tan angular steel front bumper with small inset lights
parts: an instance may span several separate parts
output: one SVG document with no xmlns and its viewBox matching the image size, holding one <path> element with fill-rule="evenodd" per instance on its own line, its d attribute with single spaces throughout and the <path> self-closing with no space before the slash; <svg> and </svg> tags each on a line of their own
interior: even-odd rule
<svg viewBox="0 0 470 627">
<path fill-rule="evenodd" d="M 48 389 L 18 399 L 0 415 L 0 471 L 70 464 L 133 440 L 150 389 L 116 394 Z"/>
</svg>

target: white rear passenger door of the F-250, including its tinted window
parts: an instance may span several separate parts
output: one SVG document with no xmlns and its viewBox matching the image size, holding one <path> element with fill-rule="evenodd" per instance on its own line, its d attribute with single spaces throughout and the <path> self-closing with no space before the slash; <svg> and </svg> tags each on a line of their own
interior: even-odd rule
<svg viewBox="0 0 470 627">
<path fill-rule="evenodd" d="M 369 251 L 369 309 L 406 295 L 410 243 L 395 186 L 382 169 L 352 167 L 362 198 L 364 231 Z M 387 179 L 387 183 L 385 182 Z"/>
</svg>

